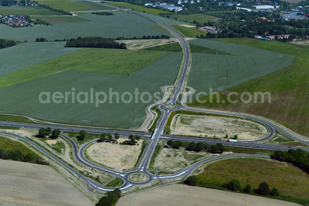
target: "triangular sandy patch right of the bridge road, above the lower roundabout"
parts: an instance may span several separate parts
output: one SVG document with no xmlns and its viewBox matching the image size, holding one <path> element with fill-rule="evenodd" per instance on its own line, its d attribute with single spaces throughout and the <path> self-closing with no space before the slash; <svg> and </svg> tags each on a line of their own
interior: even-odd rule
<svg viewBox="0 0 309 206">
<path fill-rule="evenodd" d="M 172 149 L 163 147 L 155 160 L 154 169 L 177 171 L 210 156 L 214 156 L 214 154 L 186 151 L 183 148 Z M 167 162 L 168 164 L 166 164 Z"/>
</svg>

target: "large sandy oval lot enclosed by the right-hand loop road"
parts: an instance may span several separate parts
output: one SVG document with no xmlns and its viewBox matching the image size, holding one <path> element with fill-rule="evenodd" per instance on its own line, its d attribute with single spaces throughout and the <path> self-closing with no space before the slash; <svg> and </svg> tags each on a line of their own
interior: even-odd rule
<svg viewBox="0 0 309 206">
<path fill-rule="evenodd" d="M 175 122 L 176 121 L 176 122 Z M 223 138 L 238 135 L 239 140 L 255 140 L 265 137 L 267 129 L 258 123 L 227 117 L 178 115 L 171 122 L 171 134 L 196 135 Z"/>
</svg>

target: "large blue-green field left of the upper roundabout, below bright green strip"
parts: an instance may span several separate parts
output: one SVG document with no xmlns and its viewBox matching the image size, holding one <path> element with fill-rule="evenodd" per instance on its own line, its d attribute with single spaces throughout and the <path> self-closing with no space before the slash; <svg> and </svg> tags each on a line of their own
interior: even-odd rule
<svg viewBox="0 0 309 206">
<path fill-rule="evenodd" d="M 109 98 L 109 88 L 120 96 L 124 92 L 133 94 L 135 88 L 138 88 L 140 93 L 160 92 L 161 85 L 174 83 L 180 61 L 181 53 L 171 52 L 129 76 L 66 70 L 3 87 L 0 88 L 0 96 L 10 98 L 2 98 L 0 113 L 23 114 L 36 119 L 78 125 L 138 128 L 146 119 L 146 106 L 157 99 L 153 96 L 149 103 L 142 103 L 140 100 L 135 103 L 135 99 L 125 103 L 120 98 L 120 103 L 116 103 L 115 95 Z M 108 101 L 96 107 L 95 101 L 84 104 L 77 101 L 42 104 L 38 99 L 39 94 L 44 91 L 65 93 L 72 91 L 72 88 L 75 88 L 75 94 L 89 92 L 91 88 L 94 92 L 106 92 Z M 160 98 L 162 96 L 163 94 L 159 95 Z M 100 99 L 102 98 L 101 96 Z M 128 97 L 124 99 L 128 100 Z M 148 96 L 144 99 L 148 100 Z M 112 103 L 109 103 L 110 101 Z"/>
</svg>

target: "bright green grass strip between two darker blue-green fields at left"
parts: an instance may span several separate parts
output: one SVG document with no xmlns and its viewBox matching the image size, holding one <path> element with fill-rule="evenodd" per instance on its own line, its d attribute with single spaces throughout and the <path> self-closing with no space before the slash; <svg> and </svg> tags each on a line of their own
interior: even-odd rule
<svg viewBox="0 0 309 206">
<path fill-rule="evenodd" d="M 0 77 L 0 87 L 66 70 L 129 75 L 168 52 L 84 48 Z"/>
</svg>

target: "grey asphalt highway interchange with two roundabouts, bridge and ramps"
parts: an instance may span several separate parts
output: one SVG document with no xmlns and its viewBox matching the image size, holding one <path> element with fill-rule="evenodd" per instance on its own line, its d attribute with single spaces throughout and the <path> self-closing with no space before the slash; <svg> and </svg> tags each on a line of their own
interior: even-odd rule
<svg viewBox="0 0 309 206">
<path fill-rule="evenodd" d="M 118 7 L 115 7 L 115 6 L 111 6 L 111 5 L 108 5 L 108 6 L 120 9 Z M 31 129 L 40 129 L 41 127 L 44 127 L 44 128 L 51 127 L 52 129 L 58 128 L 61 131 L 79 132 L 80 130 L 85 130 L 87 133 L 91 133 L 91 134 L 118 133 L 121 136 L 140 135 L 144 139 L 149 139 L 148 144 L 146 145 L 146 148 L 145 148 L 145 150 L 142 154 L 142 157 L 141 157 L 140 161 L 138 162 L 137 168 L 133 168 L 134 171 L 126 172 L 126 171 L 116 171 L 116 170 L 113 170 L 113 169 L 110 169 L 110 168 L 107 168 L 107 167 L 104 167 L 104 166 L 101 166 L 101 165 L 97 165 L 97 164 L 89 161 L 86 157 L 84 157 L 84 152 L 85 152 L 85 149 L 87 148 L 87 146 L 89 146 L 90 144 L 97 141 L 97 139 L 91 140 L 91 141 L 85 143 L 84 145 L 82 145 L 80 148 L 78 148 L 78 145 L 74 142 L 74 140 L 72 140 L 70 137 L 68 137 L 64 134 L 61 134 L 61 138 L 66 139 L 72 145 L 73 156 L 80 164 L 82 164 L 86 167 L 90 167 L 90 168 L 93 168 L 95 170 L 107 173 L 107 174 L 111 174 L 115 177 L 122 178 L 124 180 L 124 184 L 121 187 L 119 187 L 119 189 L 121 189 L 123 191 L 128 190 L 128 189 L 130 189 L 134 186 L 141 186 L 141 185 L 149 184 L 154 180 L 176 179 L 176 178 L 186 177 L 190 173 L 192 173 L 193 170 L 195 170 L 197 167 L 201 166 L 205 162 L 213 161 L 213 160 L 220 159 L 220 158 L 227 158 L 227 157 L 269 158 L 269 156 L 267 156 L 267 155 L 258 155 L 258 154 L 218 155 L 218 156 L 213 156 L 213 157 L 209 157 L 209 158 L 206 158 L 204 160 L 198 161 L 198 162 L 194 163 L 193 165 L 190 165 L 190 166 L 188 166 L 188 167 L 186 167 L 186 168 L 184 168 L 180 171 L 173 172 L 173 174 L 171 174 L 171 175 L 162 175 L 162 176 L 161 175 L 154 175 L 154 174 L 151 174 L 149 171 L 147 171 L 147 169 L 148 169 L 151 157 L 152 157 L 153 153 L 155 152 L 155 148 L 156 148 L 156 145 L 157 145 L 159 139 L 163 139 L 163 140 L 172 139 L 172 140 L 180 140 L 180 141 L 186 141 L 186 142 L 203 141 L 203 142 L 208 142 L 210 144 L 222 143 L 223 145 L 227 145 L 227 146 L 235 146 L 235 147 L 243 147 L 243 148 L 259 148 L 259 149 L 268 149 L 268 150 L 283 150 L 283 151 L 286 151 L 290 148 L 293 148 L 293 149 L 302 148 L 303 150 L 306 150 L 306 151 L 309 152 L 309 148 L 305 148 L 305 147 L 292 147 L 292 146 L 289 147 L 289 146 L 284 146 L 284 145 L 274 145 L 274 144 L 260 143 L 260 141 L 262 141 L 262 140 L 266 140 L 266 139 L 273 137 L 275 135 L 276 131 L 279 131 L 280 133 L 282 133 L 282 134 L 284 134 L 284 135 L 286 135 L 286 136 L 288 136 L 288 137 L 290 137 L 290 138 L 292 138 L 296 141 L 302 142 L 303 144 L 308 144 L 308 142 L 305 139 L 303 139 L 302 137 L 294 134 L 293 132 L 290 132 L 289 130 L 280 126 L 276 122 L 272 122 L 272 121 L 267 120 L 265 118 L 259 118 L 259 117 L 252 116 L 252 115 L 238 114 L 238 113 L 233 113 L 233 112 L 223 112 L 223 111 L 190 108 L 190 107 L 187 107 L 185 104 L 182 104 L 182 106 L 177 105 L 177 100 L 180 96 L 180 92 L 182 91 L 182 88 L 185 86 L 184 85 L 185 84 L 185 78 L 188 75 L 188 70 L 189 70 L 190 48 L 189 48 L 188 42 L 174 28 L 172 28 L 172 27 L 170 27 L 166 24 L 163 24 L 162 22 L 159 22 L 158 20 L 156 20 L 152 17 L 149 17 L 147 15 L 143 15 L 142 13 L 134 12 L 132 10 L 124 10 L 124 9 L 120 9 L 120 10 L 127 11 L 127 12 L 130 12 L 130 13 L 136 14 L 136 15 L 140 15 L 144 18 L 147 18 L 147 19 L 150 19 L 151 21 L 154 21 L 158 25 L 161 25 L 162 27 L 164 27 L 168 31 L 170 31 L 173 36 L 178 38 L 179 41 L 180 41 L 180 44 L 183 47 L 183 63 L 182 63 L 181 68 L 180 68 L 178 79 L 176 80 L 175 85 L 173 85 L 175 88 L 174 88 L 169 100 L 167 102 L 157 106 L 158 109 L 161 110 L 162 115 L 159 117 L 158 122 L 156 124 L 155 131 L 152 135 L 149 134 L 149 133 L 144 133 L 144 132 L 140 132 L 140 131 L 116 130 L 116 129 L 109 130 L 109 129 L 102 129 L 102 128 L 87 128 L 87 127 L 65 126 L 65 125 L 46 125 L 46 124 L 44 125 L 44 124 L 39 124 L 39 123 L 38 124 L 30 124 L 30 123 L 0 121 L 0 126 L 23 127 L 23 128 L 31 128 Z M 166 107 L 165 107 L 166 105 L 173 105 L 175 107 L 175 109 L 166 109 Z M 259 140 L 256 140 L 256 141 L 239 141 L 237 143 L 227 143 L 226 141 L 219 140 L 219 139 L 205 139 L 205 138 L 186 137 L 186 136 L 179 136 L 179 135 L 178 136 L 177 135 L 163 135 L 164 127 L 166 125 L 166 122 L 167 122 L 169 115 L 171 114 L 172 111 L 176 111 L 176 110 L 187 110 L 187 111 L 201 112 L 201 113 L 206 113 L 206 114 L 222 114 L 222 115 L 229 115 L 229 116 L 236 116 L 236 117 L 251 119 L 251 120 L 254 120 L 256 122 L 259 122 L 259 123 L 265 125 L 265 127 L 269 130 L 269 134 L 265 138 L 259 139 Z M 31 144 L 33 147 L 35 147 L 41 153 L 48 156 L 51 160 L 53 160 L 57 164 L 61 165 L 61 167 L 66 168 L 66 170 L 70 171 L 71 173 L 73 173 L 77 177 L 81 178 L 87 184 L 87 186 L 93 188 L 93 190 L 95 192 L 98 192 L 98 191 L 105 192 L 105 191 L 113 190 L 111 188 L 107 188 L 107 187 L 102 186 L 101 184 L 92 180 L 89 177 L 83 176 L 82 174 L 80 174 L 80 172 L 78 172 L 74 168 L 70 167 L 65 162 L 63 162 L 59 158 L 55 157 L 53 154 L 45 151 L 39 145 L 33 143 L 31 140 L 29 140 L 25 137 L 15 135 L 15 134 L 10 134 L 10 133 L 7 133 L 7 132 L 0 132 L 0 134 L 10 135 L 10 136 L 12 136 L 16 139 L 22 139 L 23 141 L 26 141 L 28 144 Z M 155 170 L 152 170 L 152 171 L 155 171 Z M 145 182 L 132 182 L 132 181 L 130 181 L 129 176 L 131 174 L 136 174 L 136 173 L 145 174 L 145 175 L 148 176 L 148 179 Z M 156 171 L 155 171 L 155 174 L 157 174 Z"/>
</svg>

